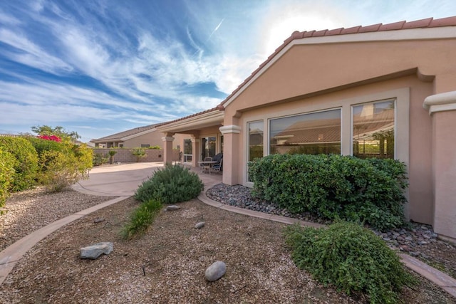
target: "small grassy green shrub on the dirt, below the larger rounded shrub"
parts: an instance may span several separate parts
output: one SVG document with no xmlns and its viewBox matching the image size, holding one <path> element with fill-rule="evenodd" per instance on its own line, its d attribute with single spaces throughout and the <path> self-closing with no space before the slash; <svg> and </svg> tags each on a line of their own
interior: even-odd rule
<svg viewBox="0 0 456 304">
<path fill-rule="evenodd" d="M 128 224 L 123 226 L 120 235 L 124 239 L 132 239 L 134 236 L 143 234 L 147 227 L 153 223 L 155 217 L 160 213 L 162 204 L 160 201 L 150 199 L 143 202 L 130 216 Z"/>
</svg>

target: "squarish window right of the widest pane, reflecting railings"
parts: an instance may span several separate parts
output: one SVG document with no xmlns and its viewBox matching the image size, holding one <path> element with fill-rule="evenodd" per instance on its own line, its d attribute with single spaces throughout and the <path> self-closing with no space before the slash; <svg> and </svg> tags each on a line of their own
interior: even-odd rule
<svg viewBox="0 0 456 304">
<path fill-rule="evenodd" d="M 353 155 L 394 159 L 395 100 L 353 105 Z"/>
</svg>

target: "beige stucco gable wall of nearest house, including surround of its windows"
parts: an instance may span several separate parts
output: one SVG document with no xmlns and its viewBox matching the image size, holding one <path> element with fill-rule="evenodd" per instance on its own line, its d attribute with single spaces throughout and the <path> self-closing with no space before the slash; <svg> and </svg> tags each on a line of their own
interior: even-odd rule
<svg viewBox="0 0 456 304">
<path fill-rule="evenodd" d="M 455 39 L 293 46 L 225 104 L 224 125 L 242 128 L 241 136 L 232 137 L 242 152 L 232 155 L 231 167 L 225 162 L 230 179 L 224 182 L 248 184 L 249 121 L 264 120 L 266 154 L 269 118 L 341 108 L 342 154 L 350 154 L 351 105 L 400 95 L 403 109 L 396 122 L 403 125 L 397 130 L 396 156 L 408 165 L 407 213 L 433 224 L 432 120 L 423 101 L 455 90 L 455 49 Z"/>
</svg>

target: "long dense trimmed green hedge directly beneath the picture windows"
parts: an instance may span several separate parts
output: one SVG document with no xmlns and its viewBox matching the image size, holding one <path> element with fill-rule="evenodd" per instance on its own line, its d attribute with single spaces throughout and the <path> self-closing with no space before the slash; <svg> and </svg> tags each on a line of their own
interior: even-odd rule
<svg viewBox="0 0 456 304">
<path fill-rule="evenodd" d="M 252 194 L 292 213 L 385 230 L 404 224 L 405 164 L 336 154 L 273 154 L 249 164 Z"/>
</svg>

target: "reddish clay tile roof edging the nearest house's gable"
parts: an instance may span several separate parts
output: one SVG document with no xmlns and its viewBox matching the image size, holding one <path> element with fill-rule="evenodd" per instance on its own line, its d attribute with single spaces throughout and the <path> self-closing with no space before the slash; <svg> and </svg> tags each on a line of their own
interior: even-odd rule
<svg viewBox="0 0 456 304">
<path fill-rule="evenodd" d="M 232 98 L 239 90 L 241 90 L 244 85 L 246 85 L 252 78 L 254 78 L 257 73 L 261 70 L 261 68 L 264 68 L 264 65 L 269 63 L 269 61 L 272 60 L 282 49 L 284 49 L 291 41 L 294 41 L 295 39 L 301 39 L 301 38 L 311 38 L 311 37 L 322 37 L 322 36 L 337 36 L 337 35 L 348 35 L 348 34 L 353 34 L 353 33 L 369 33 L 369 32 L 376 32 L 376 31 L 398 31 L 398 30 L 405 30 L 405 29 L 410 29 L 410 28 L 435 28 L 435 27 L 442 27 L 442 26 L 456 26 L 456 16 L 452 17 L 447 17 L 447 18 L 442 18 L 442 19 L 433 19 L 433 18 L 427 18 L 427 19 L 421 19 L 421 20 L 416 20 L 416 21 L 399 21 L 399 22 L 394 22 L 394 23 L 388 23 L 388 24 L 383 24 L 383 23 L 377 23 L 377 24 L 372 24 L 370 26 L 353 26 L 351 28 L 335 28 L 332 30 L 322 30 L 322 31 L 294 31 L 294 33 L 291 34 L 289 38 L 287 38 L 284 43 L 279 46 L 279 48 L 276 48 L 274 53 L 272 53 L 266 61 L 261 63 L 257 70 L 254 70 L 251 75 L 249 75 L 248 78 L 244 80 L 243 83 L 241 83 L 230 95 L 225 98 L 222 103 L 220 103 L 216 108 L 212 108 L 209 110 L 205 110 L 202 112 L 195 113 L 193 115 L 189 115 L 186 117 L 179 118 L 177 120 L 172 120 L 169 122 L 163 122 L 160 125 L 167 125 L 172 122 L 177 122 L 180 120 L 185 120 L 190 117 L 195 117 L 198 115 L 202 115 L 207 112 L 212 112 L 214 110 L 224 110 L 224 104 L 227 103 L 227 101 Z"/>
</svg>

